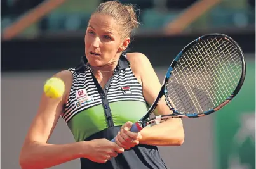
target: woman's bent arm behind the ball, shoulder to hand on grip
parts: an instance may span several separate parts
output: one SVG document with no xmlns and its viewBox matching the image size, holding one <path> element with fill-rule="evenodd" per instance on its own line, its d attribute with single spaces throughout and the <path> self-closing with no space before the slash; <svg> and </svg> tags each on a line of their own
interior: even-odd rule
<svg viewBox="0 0 256 169">
<path fill-rule="evenodd" d="M 64 95 L 58 99 L 51 99 L 44 93 L 42 94 L 39 109 L 30 125 L 20 153 L 21 168 L 49 168 L 82 157 L 105 163 L 109 155 L 116 156 L 116 152 L 122 153 L 123 148 L 107 139 L 70 144 L 48 144 L 48 139 L 60 115 L 64 112 L 64 105 L 72 85 L 72 73 L 69 71 L 59 72 L 54 77 L 64 81 Z"/>
</svg>

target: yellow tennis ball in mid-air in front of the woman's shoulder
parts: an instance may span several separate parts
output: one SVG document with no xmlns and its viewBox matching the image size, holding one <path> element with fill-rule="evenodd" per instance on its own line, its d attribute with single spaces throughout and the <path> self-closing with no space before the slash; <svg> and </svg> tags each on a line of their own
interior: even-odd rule
<svg viewBox="0 0 256 169">
<path fill-rule="evenodd" d="M 52 77 L 46 80 L 44 84 L 44 93 L 46 96 L 57 99 L 64 94 L 65 84 L 60 78 Z"/>
</svg>

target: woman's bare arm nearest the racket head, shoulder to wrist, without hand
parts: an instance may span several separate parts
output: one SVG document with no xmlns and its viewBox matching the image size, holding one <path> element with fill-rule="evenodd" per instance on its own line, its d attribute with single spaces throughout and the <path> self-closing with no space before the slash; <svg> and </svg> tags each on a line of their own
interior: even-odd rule
<svg viewBox="0 0 256 169">
<path fill-rule="evenodd" d="M 131 63 L 131 69 L 141 80 L 145 100 L 151 105 L 161 89 L 156 72 L 154 72 L 149 59 L 142 53 L 131 53 L 128 55 L 128 60 Z M 172 111 L 166 105 L 163 97 L 154 114 L 157 116 L 170 113 Z M 180 146 L 184 142 L 184 128 L 180 118 L 171 118 L 158 125 L 145 127 L 140 134 L 142 135 L 141 144 Z"/>
</svg>

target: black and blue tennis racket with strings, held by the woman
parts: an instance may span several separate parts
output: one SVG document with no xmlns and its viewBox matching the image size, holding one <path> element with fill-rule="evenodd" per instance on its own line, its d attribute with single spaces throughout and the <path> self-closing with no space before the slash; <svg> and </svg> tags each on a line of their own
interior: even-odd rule
<svg viewBox="0 0 256 169">
<path fill-rule="evenodd" d="M 195 39 L 172 61 L 158 97 L 131 132 L 168 118 L 198 118 L 220 110 L 238 94 L 245 73 L 243 51 L 231 37 L 207 34 Z M 163 96 L 173 113 L 149 119 Z"/>
</svg>

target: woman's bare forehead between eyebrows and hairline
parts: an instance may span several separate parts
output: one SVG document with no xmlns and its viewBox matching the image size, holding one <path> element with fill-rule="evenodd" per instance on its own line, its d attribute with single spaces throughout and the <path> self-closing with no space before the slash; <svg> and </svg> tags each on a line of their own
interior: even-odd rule
<svg viewBox="0 0 256 169">
<path fill-rule="evenodd" d="M 116 23 L 114 18 L 98 13 L 91 16 L 88 26 L 92 26 L 97 30 L 109 30 L 113 33 L 118 32 L 119 30 L 119 25 Z"/>
</svg>

